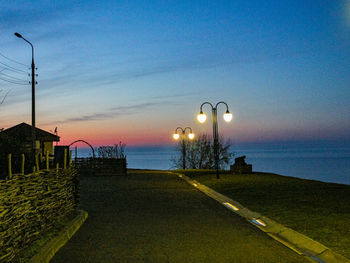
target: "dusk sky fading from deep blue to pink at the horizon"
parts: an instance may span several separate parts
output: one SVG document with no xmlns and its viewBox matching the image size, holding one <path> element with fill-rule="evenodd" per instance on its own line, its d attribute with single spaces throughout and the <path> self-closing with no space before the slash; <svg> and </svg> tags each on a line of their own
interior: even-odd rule
<svg viewBox="0 0 350 263">
<path fill-rule="evenodd" d="M 177 127 L 234 144 L 350 145 L 350 0 L 0 2 L 0 128 L 171 145 Z M 26 84 L 26 85 L 22 85 Z M 4 99 L 4 97 L 6 98 Z M 3 100 L 4 99 L 4 100 Z"/>
</svg>

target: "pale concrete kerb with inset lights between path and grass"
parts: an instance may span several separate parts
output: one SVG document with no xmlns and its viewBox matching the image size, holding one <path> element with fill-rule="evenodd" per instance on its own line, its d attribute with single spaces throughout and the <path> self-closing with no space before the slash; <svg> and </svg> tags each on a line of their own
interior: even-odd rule
<svg viewBox="0 0 350 263">
<path fill-rule="evenodd" d="M 275 240 L 284 244 L 288 248 L 292 249 L 299 255 L 303 255 L 308 259 L 312 259 L 315 262 L 326 263 L 350 263 L 350 260 L 344 256 L 335 253 L 328 247 L 320 244 L 319 242 L 300 234 L 293 229 L 287 228 L 259 213 L 250 211 L 245 208 L 239 202 L 230 199 L 229 197 L 222 195 L 213 189 L 200 184 L 196 180 L 187 177 L 184 174 L 173 173 L 179 178 L 185 180 L 188 184 L 194 186 L 199 191 L 203 192 L 207 196 L 220 202 L 226 208 L 232 212 L 245 218 L 249 223 L 256 226 Z"/>
</svg>

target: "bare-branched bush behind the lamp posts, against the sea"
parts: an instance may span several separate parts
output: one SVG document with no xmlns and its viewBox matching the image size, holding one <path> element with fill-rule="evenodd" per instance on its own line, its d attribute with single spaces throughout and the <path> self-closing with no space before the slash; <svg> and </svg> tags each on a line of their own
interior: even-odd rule
<svg viewBox="0 0 350 263">
<path fill-rule="evenodd" d="M 182 168 L 182 142 L 177 146 L 178 155 L 173 156 L 171 162 L 173 167 Z M 219 138 L 219 167 L 224 169 L 230 163 L 234 153 L 230 152 L 231 142 Z M 185 161 L 186 167 L 190 169 L 214 169 L 214 146 L 211 136 L 200 134 L 193 141 L 185 141 Z"/>
</svg>

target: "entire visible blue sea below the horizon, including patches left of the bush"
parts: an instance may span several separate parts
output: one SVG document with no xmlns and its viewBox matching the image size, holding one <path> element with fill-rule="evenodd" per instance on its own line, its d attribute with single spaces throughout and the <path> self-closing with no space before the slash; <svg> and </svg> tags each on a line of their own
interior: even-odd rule
<svg viewBox="0 0 350 263">
<path fill-rule="evenodd" d="M 350 147 L 237 146 L 231 151 L 235 157 L 245 155 L 256 172 L 350 185 Z M 179 154 L 175 146 L 126 146 L 125 153 L 128 168 L 157 170 L 174 169 L 171 159 Z M 91 149 L 77 148 L 77 156 L 90 157 Z"/>
</svg>

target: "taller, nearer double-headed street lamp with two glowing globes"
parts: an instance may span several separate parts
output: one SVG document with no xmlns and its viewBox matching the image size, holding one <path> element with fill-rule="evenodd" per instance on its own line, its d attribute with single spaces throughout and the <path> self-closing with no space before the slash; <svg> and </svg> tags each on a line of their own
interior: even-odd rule
<svg viewBox="0 0 350 263">
<path fill-rule="evenodd" d="M 209 104 L 212 110 L 212 119 L 213 119 L 213 140 L 214 140 L 214 158 L 215 158 L 215 169 L 216 169 L 216 178 L 219 179 L 219 133 L 218 133 L 218 122 L 217 122 L 217 107 L 219 104 L 226 105 L 226 113 L 224 114 L 224 120 L 230 122 L 232 120 L 232 114 L 228 110 L 228 105 L 226 102 L 220 101 L 216 103 L 215 107 L 210 102 L 202 103 L 200 107 L 200 112 L 197 115 L 197 119 L 200 123 L 204 123 L 207 119 L 207 115 L 203 113 L 202 107 L 205 104 Z"/>
</svg>

